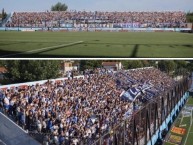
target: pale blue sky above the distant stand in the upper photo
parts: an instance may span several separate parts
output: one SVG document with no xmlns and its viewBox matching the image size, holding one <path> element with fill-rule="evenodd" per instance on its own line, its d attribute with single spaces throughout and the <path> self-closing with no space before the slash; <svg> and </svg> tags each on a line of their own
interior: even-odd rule
<svg viewBox="0 0 193 145">
<path fill-rule="evenodd" d="M 40 3 L 41 2 L 41 3 Z M 193 0 L 0 0 L 0 11 L 47 11 L 57 2 L 77 11 L 191 11 Z"/>
</svg>

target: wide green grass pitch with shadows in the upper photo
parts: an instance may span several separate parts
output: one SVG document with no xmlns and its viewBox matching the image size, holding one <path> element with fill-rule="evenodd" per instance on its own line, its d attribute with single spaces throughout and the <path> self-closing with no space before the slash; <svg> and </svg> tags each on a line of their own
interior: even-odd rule
<svg viewBox="0 0 193 145">
<path fill-rule="evenodd" d="M 174 32 L 0 32 L 1 58 L 193 57 L 193 34 Z"/>
</svg>

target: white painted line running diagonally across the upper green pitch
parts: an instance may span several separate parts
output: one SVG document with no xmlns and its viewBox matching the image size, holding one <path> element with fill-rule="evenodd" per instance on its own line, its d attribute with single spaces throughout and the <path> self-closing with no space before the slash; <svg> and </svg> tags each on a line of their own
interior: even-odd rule
<svg viewBox="0 0 193 145">
<path fill-rule="evenodd" d="M 60 48 L 60 47 L 66 47 L 66 46 L 81 44 L 81 43 L 83 43 L 83 42 L 84 42 L 84 41 L 77 41 L 77 42 L 72 42 L 72 43 L 68 43 L 68 44 L 62 44 L 62 45 L 44 47 L 44 48 L 39 48 L 39 49 L 35 49 L 35 50 L 24 51 L 24 52 L 20 52 L 20 53 L 3 55 L 3 56 L 0 56 L 0 57 L 15 56 L 15 55 L 19 55 L 19 54 L 30 54 L 30 53 L 34 53 L 34 52 L 38 52 L 38 51 L 42 51 L 42 50 L 49 50 L 49 49 L 54 49 L 54 48 Z"/>
</svg>

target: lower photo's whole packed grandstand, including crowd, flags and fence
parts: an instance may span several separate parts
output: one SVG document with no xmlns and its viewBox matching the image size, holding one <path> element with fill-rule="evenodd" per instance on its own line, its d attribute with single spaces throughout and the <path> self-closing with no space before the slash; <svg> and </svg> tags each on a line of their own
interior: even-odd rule
<svg viewBox="0 0 193 145">
<path fill-rule="evenodd" d="M 5 145 L 159 144 L 191 84 L 190 76 L 144 67 L 0 86 L 0 138 Z"/>
</svg>

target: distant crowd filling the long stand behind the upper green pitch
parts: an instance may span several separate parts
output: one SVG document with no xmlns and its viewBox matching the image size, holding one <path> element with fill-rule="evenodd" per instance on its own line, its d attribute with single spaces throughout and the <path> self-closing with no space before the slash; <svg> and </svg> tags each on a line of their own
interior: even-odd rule
<svg viewBox="0 0 193 145">
<path fill-rule="evenodd" d="M 60 24 L 59 24 L 60 23 Z M 137 23 L 137 27 L 184 27 L 186 14 L 182 11 L 163 12 L 14 12 L 8 27 L 58 27 L 62 24 L 101 24 L 101 27 L 113 27 L 115 24 Z M 108 24 L 108 25 L 107 25 Z M 88 25 L 92 26 L 92 25 Z"/>
</svg>

